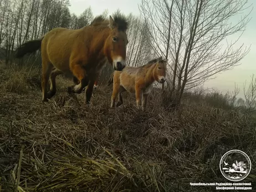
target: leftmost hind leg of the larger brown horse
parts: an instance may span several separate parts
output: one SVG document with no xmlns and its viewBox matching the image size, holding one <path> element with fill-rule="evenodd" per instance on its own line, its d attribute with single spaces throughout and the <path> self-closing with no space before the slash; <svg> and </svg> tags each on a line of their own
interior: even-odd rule
<svg viewBox="0 0 256 192">
<path fill-rule="evenodd" d="M 50 77 L 50 72 L 52 72 L 53 65 L 50 63 L 50 61 L 47 61 L 42 58 L 42 92 L 43 92 L 43 102 L 47 102 L 47 87 L 48 87 L 48 81 Z"/>
</svg>

